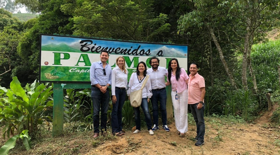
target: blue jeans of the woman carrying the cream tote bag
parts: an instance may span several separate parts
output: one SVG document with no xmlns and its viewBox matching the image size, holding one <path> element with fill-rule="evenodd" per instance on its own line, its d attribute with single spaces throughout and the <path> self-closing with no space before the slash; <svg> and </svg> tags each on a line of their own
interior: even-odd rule
<svg viewBox="0 0 280 155">
<path fill-rule="evenodd" d="M 148 100 L 147 98 L 142 98 L 141 107 L 145 115 L 146 124 L 148 127 L 148 130 L 152 129 L 152 120 L 151 115 L 148 107 Z M 140 107 L 134 108 L 134 114 L 135 114 L 135 122 L 136 122 L 136 129 L 141 131 L 141 121 L 140 121 Z"/>
</svg>

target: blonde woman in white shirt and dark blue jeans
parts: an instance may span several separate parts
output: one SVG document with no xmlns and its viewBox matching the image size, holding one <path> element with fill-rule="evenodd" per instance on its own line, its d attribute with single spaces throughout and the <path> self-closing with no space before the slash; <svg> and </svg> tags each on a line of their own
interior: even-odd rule
<svg viewBox="0 0 280 155">
<path fill-rule="evenodd" d="M 122 136 L 122 106 L 125 103 L 127 89 L 127 69 L 125 58 L 120 56 L 116 59 L 116 67 L 112 70 L 112 102 L 111 114 L 112 134 Z"/>
</svg>

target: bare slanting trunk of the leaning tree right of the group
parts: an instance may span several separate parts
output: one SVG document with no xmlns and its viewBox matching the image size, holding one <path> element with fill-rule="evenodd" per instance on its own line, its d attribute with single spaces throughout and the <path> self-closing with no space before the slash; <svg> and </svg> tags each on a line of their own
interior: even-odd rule
<svg viewBox="0 0 280 155">
<path fill-rule="evenodd" d="M 233 76 L 232 76 L 232 74 L 231 74 L 231 71 L 230 71 L 229 68 L 228 68 L 228 65 L 227 65 L 226 61 L 225 61 L 222 48 L 220 47 L 220 44 L 218 43 L 218 40 L 217 40 L 217 38 L 216 38 L 216 36 L 215 36 L 215 34 L 214 34 L 214 30 L 213 30 L 212 27 L 210 27 L 209 25 L 207 25 L 207 27 L 208 27 L 208 29 L 210 30 L 211 37 L 212 37 L 212 39 L 213 39 L 213 41 L 214 41 L 214 43 L 215 43 L 215 45 L 216 45 L 216 47 L 217 47 L 217 50 L 218 50 L 219 55 L 220 55 L 220 59 L 221 59 L 221 61 L 222 61 L 222 63 L 223 63 L 223 66 L 225 67 L 225 72 L 227 73 L 228 78 L 230 79 L 231 86 L 233 86 L 234 89 L 237 89 L 237 85 L 236 85 L 236 83 L 234 82 L 234 78 L 233 78 Z"/>
</svg>

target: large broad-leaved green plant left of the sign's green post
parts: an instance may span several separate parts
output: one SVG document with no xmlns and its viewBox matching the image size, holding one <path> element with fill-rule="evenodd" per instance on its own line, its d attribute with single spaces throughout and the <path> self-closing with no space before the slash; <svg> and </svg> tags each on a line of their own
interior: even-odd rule
<svg viewBox="0 0 280 155">
<path fill-rule="evenodd" d="M 51 90 L 53 86 L 36 83 L 36 80 L 25 89 L 17 77 L 10 83 L 10 89 L 0 98 L 0 122 L 5 124 L 2 132 L 3 137 L 10 137 L 15 129 L 20 134 L 28 130 L 31 136 L 38 131 L 38 125 L 46 121 L 43 112 L 53 106 Z M 2 89 L 2 91 L 4 91 Z"/>
</svg>

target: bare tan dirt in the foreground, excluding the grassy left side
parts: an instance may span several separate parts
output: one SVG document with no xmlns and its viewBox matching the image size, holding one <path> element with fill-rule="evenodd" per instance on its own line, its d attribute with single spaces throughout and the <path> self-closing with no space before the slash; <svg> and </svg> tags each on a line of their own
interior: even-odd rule
<svg viewBox="0 0 280 155">
<path fill-rule="evenodd" d="M 176 134 L 175 125 L 169 125 L 170 132 L 163 129 L 150 136 L 148 131 L 139 134 L 127 132 L 109 142 L 92 148 L 85 155 L 103 154 L 209 154 L 209 155 L 242 155 L 242 154 L 280 154 L 280 147 L 275 142 L 280 133 L 272 128 L 264 128 L 266 124 L 234 124 L 223 123 L 219 119 L 206 120 L 205 145 L 194 145 L 196 127 L 189 125 L 185 138 Z M 280 127 L 279 127 L 280 128 Z M 280 142 L 280 141 L 279 141 Z M 175 146 L 176 144 L 176 146 Z M 131 151 L 131 152 L 130 152 Z"/>
</svg>

